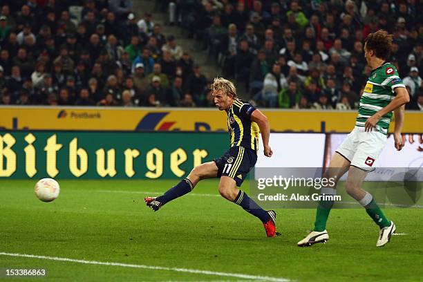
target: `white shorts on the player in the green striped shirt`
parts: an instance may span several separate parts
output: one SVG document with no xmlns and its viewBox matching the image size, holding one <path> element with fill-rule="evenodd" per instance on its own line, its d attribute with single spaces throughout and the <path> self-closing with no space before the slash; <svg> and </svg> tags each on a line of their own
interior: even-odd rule
<svg viewBox="0 0 423 282">
<path fill-rule="evenodd" d="M 355 126 L 336 152 L 350 161 L 353 167 L 373 171 L 373 164 L 384 149 L 387 138 L 379 131 L 364 130 L 364 127 Z"/>
</svg>

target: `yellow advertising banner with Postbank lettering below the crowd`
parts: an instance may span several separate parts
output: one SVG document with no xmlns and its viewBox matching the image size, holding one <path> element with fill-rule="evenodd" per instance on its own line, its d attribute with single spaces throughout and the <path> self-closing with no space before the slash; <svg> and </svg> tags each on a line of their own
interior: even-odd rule
<svg viewBox="0 0 423 282">
<path fill-rule="evenodd" d="M 275 132 L 340 132 L 353 129 L 356 111 L 263 109 Z M 99 107 L 0 107 L 0 129 L 86 131 L 227 131 L 217 109 Z M 391 131 L 393 125 L 391 125 Z M 407 111 L 404 132 L 423 132 L 423 113 Z"/>
</svg>

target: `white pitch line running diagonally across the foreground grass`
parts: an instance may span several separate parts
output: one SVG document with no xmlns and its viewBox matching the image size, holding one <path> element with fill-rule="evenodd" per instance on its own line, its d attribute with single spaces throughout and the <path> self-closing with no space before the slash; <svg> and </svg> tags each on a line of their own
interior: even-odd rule
<svg viewBox="0 0 423 282">
<path fill-rule="evenodd" d="M 270 276 L 256 276 L 256 275 L 249 275 L 249 274 L 238 274 L 238 273 L 226 273 L 226 272 L 214 272 L 209 270 L 191 270 L 188 268 L 178 268 L 178 267 L 162 267 L 162 266 L 153 266 L 153 265 L 134 265 L 134 264 L 127 264 L 127 263 L 110 263 L 104 261 L 85 261 L 82 259 L 68 259 L 68 258 L 60 258 L 57 256 L 37 256 L 34 254 L 13 254 L 7 252 L 0 252 L 0 256 L 18 256 L 23 258 L 30 258 L 30 259 L 46 259 L 48 261 L 66 261 L 70 263 L 84 263 L 84 264 L 91 264 L 91 265 L 111 265 L 111 266 L 120 266 L 120 267 L 131 267 L 131 268 L 142 268 L 147 270 L 165 270 L 165 271 L 173 271 L 173 272 L 186 272 L 186 273 L 193 273 L 193 274 L 204 274 L 204 275 L 215 275 L 215 276 L 227 276 L 227 277 L 235 277 L 240 279 L 250 279 L 250 280 L 261 280 L 261 281 L 275 281 L 275 282 L 288 282 L 290 280 L 285 278 L 277 278 L 277 277 L 270 277 Z"/>
</svg>

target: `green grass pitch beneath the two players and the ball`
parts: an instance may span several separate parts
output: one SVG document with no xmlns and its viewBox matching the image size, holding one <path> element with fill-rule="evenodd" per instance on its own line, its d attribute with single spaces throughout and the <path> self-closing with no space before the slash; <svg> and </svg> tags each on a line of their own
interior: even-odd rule
<svg viewBox="0 0 423 282">
<path fill-rule="evenodd" d="M 190 196 L 159 212 L 144 205 L 143 191 L 162 192 L 175 182 L 61 180 L 59 198 L 42 203 L 33 192 L 35 180 L 1 180 L 0 252 L 290 281 L 421 281 L 423 277 L 422 209 L 385 209 L 397 224 L 397 233 L 405 235 L 393 236 L 382 248 L 375 247 L 378 230 L 364 209 L 335 209 L 328 222 L 328 243 L 300 248 L 297 241 L 312 227 L 313 209 L 276 210 L 282 235 L 267 238 L 258 219 L 218 196 L 217 180 L 200 182 Z M 244 280 L 0 255 L 0 269 L 34 267 L 48 271 L 46 279 L 37 281 Z"/>
</svg>

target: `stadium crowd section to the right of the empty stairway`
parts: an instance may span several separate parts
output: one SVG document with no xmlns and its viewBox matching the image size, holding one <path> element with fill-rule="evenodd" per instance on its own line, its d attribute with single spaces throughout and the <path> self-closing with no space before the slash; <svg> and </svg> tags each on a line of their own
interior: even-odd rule
<svg viewBox="0 0 423 282">
<path fill-rule="evenodd" d="M 185 2 L 185 3 L 184 3 Z M 393 34 L 391 62 L 423 109 L 422 1 L 176 1 L 180 24 L 222 66 L 245 83 L 262 106 L 282 109 L 356 109 L 371 73 L 364 39 Z"/>
</svg>

